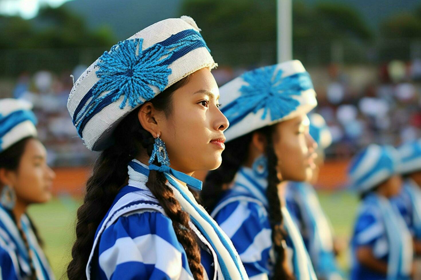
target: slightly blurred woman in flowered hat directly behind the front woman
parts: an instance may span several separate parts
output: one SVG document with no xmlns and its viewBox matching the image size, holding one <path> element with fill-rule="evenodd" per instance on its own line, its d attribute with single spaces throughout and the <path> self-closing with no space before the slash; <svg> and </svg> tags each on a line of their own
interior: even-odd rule
<svg viewBox="0 0 421 280">
<path fill-rule="evenodd" d="M 314 168 L 309 74 L 293 60 L 246 72 L 220 91 L 228 143 L 221 167 L 206 177 L 205 206 L 250 279 L 316 279 L 282 198 L 285 180 L 308 180 Z"/>
</svg>

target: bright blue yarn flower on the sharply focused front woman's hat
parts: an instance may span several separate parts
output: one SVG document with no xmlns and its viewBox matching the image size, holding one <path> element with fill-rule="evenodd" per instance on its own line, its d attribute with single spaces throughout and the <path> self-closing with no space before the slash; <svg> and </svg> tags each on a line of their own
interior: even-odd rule
<svg viewBox="0 0 421 280">
<path fill-rule="evenodd" d="M 99 70 L 96 71 L 100 79 L 93 98 L 109 91 L 102 98 L 112 95 L 112 101 L 115 102 L 124 95 L 120 109 L 127 101 L 134 108 L 139 105 L 140 98 L 149 100 L 155 96 L 149 85 L 156 86 L 160 91 L 165 89 L 171 69 L 162 65 L 161 60 L 168 55 L 168 50 L 156 44 L 152 50 L 142 51 L 142 43 L 143 39 L 139 38 L 125 40 L 101 55 L 97 64 Z"/>
</svg>

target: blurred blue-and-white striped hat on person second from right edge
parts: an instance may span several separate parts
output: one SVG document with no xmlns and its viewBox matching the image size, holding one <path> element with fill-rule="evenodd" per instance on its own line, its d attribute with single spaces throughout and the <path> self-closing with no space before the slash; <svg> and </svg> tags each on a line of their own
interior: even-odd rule
<svg viewBox="0 0 421 280">
<path fill-rule="evenodd" d="M 399 157 L 392 146 L 370 144 L 352 159 L 348 176 L 350 187 L 364 193 L 397 173 Z"/>
</svg>

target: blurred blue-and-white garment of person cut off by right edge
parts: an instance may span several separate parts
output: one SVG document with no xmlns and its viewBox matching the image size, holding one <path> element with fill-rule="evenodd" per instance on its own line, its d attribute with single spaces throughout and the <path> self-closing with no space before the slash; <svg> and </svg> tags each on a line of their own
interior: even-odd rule
<svg viewBox="0 0 421 280">
<path fill-rule="evenodd" d="M 411 234 L 421 240 L 421 188 L 408 178 L 403 183 L 401 193 L 391 202 L 399 209 Z"/>
</svg>

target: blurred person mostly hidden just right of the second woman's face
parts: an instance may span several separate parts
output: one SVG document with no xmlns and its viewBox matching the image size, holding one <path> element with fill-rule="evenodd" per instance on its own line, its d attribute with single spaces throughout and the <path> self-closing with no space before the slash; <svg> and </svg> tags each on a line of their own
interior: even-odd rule
<svg viewBox="0 0 421 280">
<path fill-rule="evenodd" d="M 335 259 L 332 226 L 313 187 L 324 163 L 324 150 L 332 143 L 332 136 L 321 115 L 312 113 L 309 119 L 310 135 L 317 143 L 316 168 L 311 182 L 288 182 L 285 192 L 286 205 L 297 223 L 319 280 L 339 280 L 342 279 L 342 272 Z"/>
</svg>

